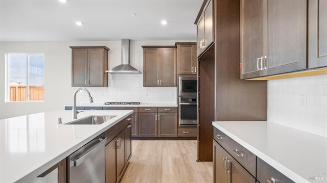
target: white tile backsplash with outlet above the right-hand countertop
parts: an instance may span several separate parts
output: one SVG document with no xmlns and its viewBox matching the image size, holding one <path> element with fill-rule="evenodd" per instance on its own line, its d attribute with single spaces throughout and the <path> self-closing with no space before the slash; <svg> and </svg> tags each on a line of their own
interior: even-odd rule
<svg viewBox="0 0 327 183">
<path fill-rule="evenodd" d="M 268 81 L 267 98 L 268 121 L 327 137 L 327 74 Z"/>
</svg>

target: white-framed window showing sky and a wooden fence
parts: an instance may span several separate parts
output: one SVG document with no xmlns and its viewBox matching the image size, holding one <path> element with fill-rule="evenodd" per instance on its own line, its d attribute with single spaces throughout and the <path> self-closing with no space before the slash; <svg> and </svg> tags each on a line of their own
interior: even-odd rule
<svg viewBox="0 0 327 183">
<path fill-rule="evenodd" d="M 44 54 L 6 54 L 6 101 L 44 100 Z"/>
</svg>

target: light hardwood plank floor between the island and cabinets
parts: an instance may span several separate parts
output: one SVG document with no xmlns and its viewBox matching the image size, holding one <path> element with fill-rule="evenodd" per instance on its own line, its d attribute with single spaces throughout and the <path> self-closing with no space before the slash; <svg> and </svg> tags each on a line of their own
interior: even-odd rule
<svg viewBox="0 0 327 183">
<path fill-rule="evenodd" d="M 196 140 L 132 140 L 121 182 L 213 182 L 213 163 L 196 162 Z"/>
</svg>

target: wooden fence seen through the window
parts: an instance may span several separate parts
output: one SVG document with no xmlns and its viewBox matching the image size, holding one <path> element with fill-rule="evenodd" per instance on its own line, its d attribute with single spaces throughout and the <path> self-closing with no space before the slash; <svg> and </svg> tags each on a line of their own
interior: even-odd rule
<svg viewBox="0 0 327 183">
<path fill-rule="evenodd" d="M 44 100 L 44 86 L 30 86 L 30 100 Z M 26 86 L 10 86 L 10 101 L 26 101 Z"/>
</svg>

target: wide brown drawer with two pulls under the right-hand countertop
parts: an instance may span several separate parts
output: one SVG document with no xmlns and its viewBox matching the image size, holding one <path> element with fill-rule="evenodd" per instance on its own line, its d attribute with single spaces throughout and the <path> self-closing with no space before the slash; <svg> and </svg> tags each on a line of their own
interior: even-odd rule
<svg viewBox="0 0 327 183">
<path fill-rule="evenodd" d="M 239 143 L 222 133 L 219 129 L 214 128 L 214 139 L 233 156 L 252 176 L 255 177 L 255 155 L 244 148 Z"/>
</svg>

